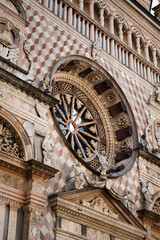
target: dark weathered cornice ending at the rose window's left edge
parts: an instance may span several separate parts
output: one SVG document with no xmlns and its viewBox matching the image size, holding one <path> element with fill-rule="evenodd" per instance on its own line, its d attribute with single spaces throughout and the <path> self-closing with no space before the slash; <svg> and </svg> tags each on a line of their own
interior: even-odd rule
<svg viewBox="0 0 160 240">
<path fill-rule="evenodd" d="M 2 58 L 0 57 L 0 61 Z M 14 64 L 10 64 L 7 61 L 7 65 L 12 65 L 11 68 L 16 72 L 21 72 L 23 74 L 27 74 L 24 70 L 18 68 Z M 14 66 L 13 66 L 14 65 Z M 10 68 L 9 66 L 9 68 Z M 15 68 L 16 66 L 16 68 Z M 14 74 L 14 73 L 13 73 Z M 10 72 L 0 68 L 0 79 L 3 82 L 7 82 L 8 84 L 11 84 L 15 88 L 20 89 L 21 91 L 25 92 L 28 96 L 32 96 L 34 99 L 38 99 L 40 102 L 43 102 L 45 104 L 48 104 L 49 106 L 53 107 L 57 103 L 57 100 L 46 93 L 42 92 L 38 88 L 32 86 L 31 84 L 23 81 L 22 79 L 14 76 Z M 15 74 L 16 75 L 16 74 Z"/>
</svg>

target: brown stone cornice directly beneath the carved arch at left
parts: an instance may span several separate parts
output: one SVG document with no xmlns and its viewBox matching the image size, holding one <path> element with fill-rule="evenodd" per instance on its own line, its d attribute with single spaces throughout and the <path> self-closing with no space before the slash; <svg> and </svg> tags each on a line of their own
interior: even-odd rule
<svg viewBox="0 0 160 240">
<path fill-rule="evenodd" d="M 54 177 L 58 172 L 57 169 L 36 160 L 25 162 L 4 152 L 0 152 L 0 167 L 21 176 L 37 176 L 42 179 Z"/>
</svg>

